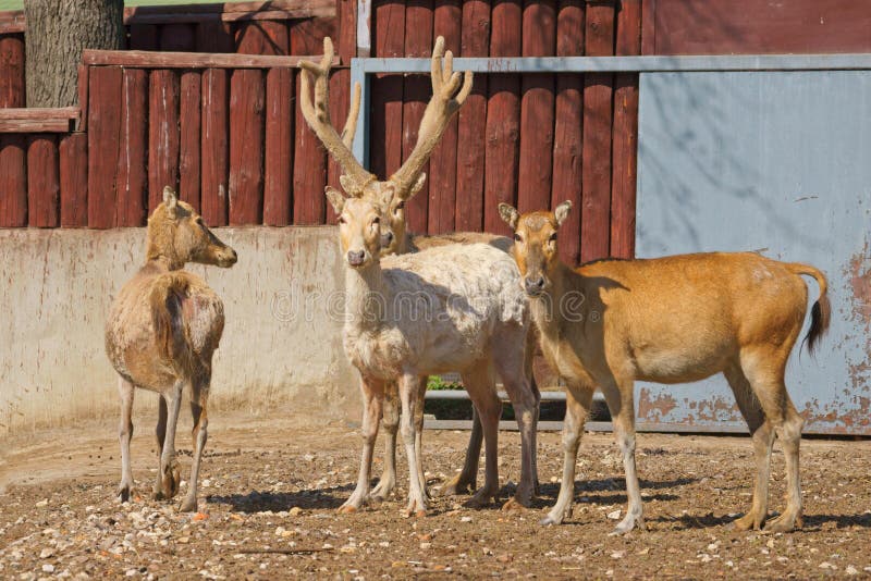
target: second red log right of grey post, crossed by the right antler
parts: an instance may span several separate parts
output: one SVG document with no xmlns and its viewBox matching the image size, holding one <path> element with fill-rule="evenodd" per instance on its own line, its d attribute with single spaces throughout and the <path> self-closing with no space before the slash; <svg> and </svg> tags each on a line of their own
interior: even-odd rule
<svg viewBox="0 0 871 581">
<path fill-rule="evenodd" d="M 416 0 L 405 7 L 405 55 L 428 58 L 432 55 L 432 1 Z M 405 77 L 402 104 L 402 161 L 414 151 L 417 144 L 420 120 L 432 96 L 432 84 L 429 75 L 409 75 Z M 429 163 L 424 165 L 424 173 L 429 176 Z M 429 210 L 429 180 L 407 203 L 406 220 L 410 232 L 427 232 L 427 212 Z"/>
</svg>

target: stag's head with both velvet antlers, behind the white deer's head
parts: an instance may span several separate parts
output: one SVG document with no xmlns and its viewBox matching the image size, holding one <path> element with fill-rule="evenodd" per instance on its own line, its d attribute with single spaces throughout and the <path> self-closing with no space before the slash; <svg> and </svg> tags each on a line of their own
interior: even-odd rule
<svg viewBox="0 0 871 581">
<path fill-rule="evenodd" d="M 442 64 L 442 57 L 444 64 Z M 395 252 L 405 239 L 405 202 L 424 187 L 427 178 L 424 165 L 439 144 L 451 118 L 469 96 L 473 74 L 471 71 L 466 71 L 465 75 L 453 72 L 453 54 L 450 50 L 445 53 L 444 38 L 440 36 L 432 49 L 432 98 L 420 121 L 417 144 L 396 173 L 387 181 L 379 181 L 376 175 L 364 170 L 351 151 L 351 143 L 354 139 L 359 113 L 359 85 L 354 88 L 354 100 L 341 136 L 330 121 L 329 74 L 332 59 L 333 44 L 327 37 L 323 39 L 323 59 L 319 64 L 299 63 L 303 67 L 299 107 L 311 131 L 341 165 L 342 175 L 339 182 L 342 189 L 352 198 L 365 198 L 380 213 L 382 218 L 381 233 L 384 237 L 382 254 Z M 314 103 L 310 90 L 312 84 L 315 86 Z M 341 196 L 338 190 L 328 189 Z M 331 194 L 328 191 L 329 196 Z"/>
</svg>

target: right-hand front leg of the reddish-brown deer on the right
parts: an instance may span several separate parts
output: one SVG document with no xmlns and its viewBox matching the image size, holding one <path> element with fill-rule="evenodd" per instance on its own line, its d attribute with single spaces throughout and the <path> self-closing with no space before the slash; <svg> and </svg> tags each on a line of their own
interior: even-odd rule
<svg viewBox="0 0 871 581">
<path fill-rule="evenodd" d="M 626 495 L 629 497 L 626 516 L 617 523 L 612 534 L 624 534 L 631 531 L 636 524 L 643 524 L 641 487 L 638 484 L 638 472 L 635 467 L 635 404 L 633 384 L 633 380 L 623 380 L 619 381 L 619 383 L 604 385 L 602 388 L 605 401 L 611 410 L 614 437 L 623 455 L 623 470 L 626 475 Z"/>
</svg>

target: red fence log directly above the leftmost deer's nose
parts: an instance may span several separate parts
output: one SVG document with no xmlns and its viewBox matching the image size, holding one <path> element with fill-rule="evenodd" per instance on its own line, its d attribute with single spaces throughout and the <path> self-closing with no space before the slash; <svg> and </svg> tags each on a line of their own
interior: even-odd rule
<svg viewBox="0 0 871 581">
<path fill-rule="evenodd" d="M 263 73 L 230 78 L 230 225 L 259 224 L 263 211 Z"/>
</svg>

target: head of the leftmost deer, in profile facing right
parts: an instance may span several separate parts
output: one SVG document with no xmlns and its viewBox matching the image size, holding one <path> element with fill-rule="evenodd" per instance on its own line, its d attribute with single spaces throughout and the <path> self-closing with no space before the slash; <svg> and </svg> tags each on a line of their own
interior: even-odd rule
<svg viewBox="0 0 871 581">
<path fill-rule="evenodd" d="M 236 251 L 211 233 L 194 208 L 179 199 L 170 186 L 163 188 L 163 202 L 148 219 L 148 260 L 162 258 L 170 270 L 186 262 L 229 268 L 236 263 Z"/>
</svg>

